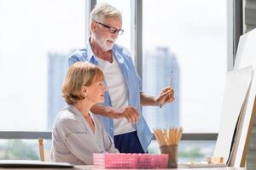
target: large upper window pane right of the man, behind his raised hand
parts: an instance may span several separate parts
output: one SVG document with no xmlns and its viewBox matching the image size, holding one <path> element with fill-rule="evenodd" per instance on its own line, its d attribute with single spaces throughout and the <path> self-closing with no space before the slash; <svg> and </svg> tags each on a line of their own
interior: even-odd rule
<svg viewBox="0 0 256 170">
<path fill-rule="evenodd" d="M 172 79 L 176 98 L 161 109 L 143 108 L 151 128 L 218 132 L 227 71 L 226 11 L 222 0 L 143 1 L 143 91 L 157 95 Z"/>
</svg>

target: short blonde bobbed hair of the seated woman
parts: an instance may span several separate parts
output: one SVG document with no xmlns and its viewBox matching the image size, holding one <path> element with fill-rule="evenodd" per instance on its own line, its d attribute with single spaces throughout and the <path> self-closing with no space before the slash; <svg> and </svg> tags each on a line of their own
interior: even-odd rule
<svg viewBox="0 0 256 170">
<path fill-rule="evenodd" d="M 102 69 L 86 62 L 77 62 L 71 65 L 62 84 L 62 96 L 69 105 L 85 99 L 82 94 L 83 86 L 90 86 L 92 82 L 102 81 Z"/>
</svg>

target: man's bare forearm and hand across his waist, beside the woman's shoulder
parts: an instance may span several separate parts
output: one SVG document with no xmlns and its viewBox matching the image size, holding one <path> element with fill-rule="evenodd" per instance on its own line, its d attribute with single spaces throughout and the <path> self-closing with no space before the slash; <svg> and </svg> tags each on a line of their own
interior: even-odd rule
<svg viewBox="0 0 256 170">
<path fill-rule="evenodd" d="M 108 116 L 113 119 L 118 119 L 125 117 L 128 122 L 136 123 L 139 119 L 139 112 L 134 107 L 128 105 L 123 109 L 113 109 L 112 107 L 106 105 L 96 104 L 93 105 L 90 111 L 97 115 Z"/>
</svg>

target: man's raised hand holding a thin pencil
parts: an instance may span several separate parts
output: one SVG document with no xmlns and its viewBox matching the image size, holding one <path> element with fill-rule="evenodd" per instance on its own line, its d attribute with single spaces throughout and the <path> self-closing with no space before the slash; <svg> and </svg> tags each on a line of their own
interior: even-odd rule
<svg viewBox="0 0 256 170">
<path fill-rule="evenodd" d="M 155 98 L 155 102 L 160 105 L 165 105 L 174 100 L 174 90 L 169 86 L 161 90 L 160 94 Z"/>
</svg>

